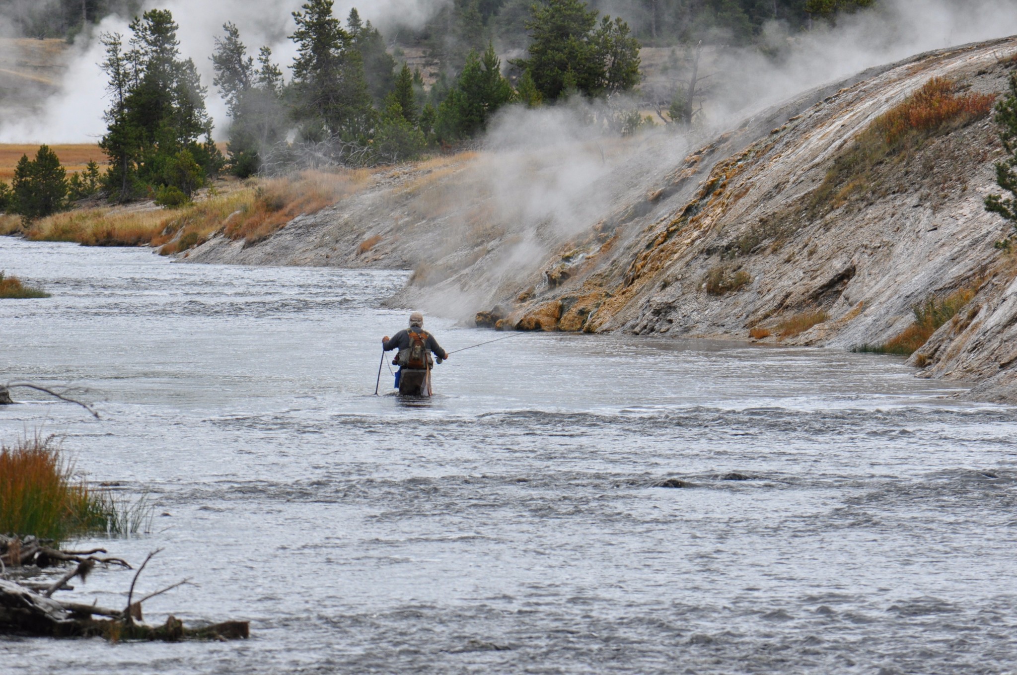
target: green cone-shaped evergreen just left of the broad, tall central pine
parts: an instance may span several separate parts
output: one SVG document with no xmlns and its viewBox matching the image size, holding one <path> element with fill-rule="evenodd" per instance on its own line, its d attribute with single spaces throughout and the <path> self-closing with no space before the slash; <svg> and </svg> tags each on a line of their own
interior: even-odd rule
<svg viewBox="0 0 1017 675">
<path fill-rule="evenodd" d="M 438 107 L 434 125 L 438 138 L 448 142 L 483 132 L 491 115 L 514 95 L 493 45 L 488 44 L 480 56 L 470 52 L 456 85 Z"/>
</svg>

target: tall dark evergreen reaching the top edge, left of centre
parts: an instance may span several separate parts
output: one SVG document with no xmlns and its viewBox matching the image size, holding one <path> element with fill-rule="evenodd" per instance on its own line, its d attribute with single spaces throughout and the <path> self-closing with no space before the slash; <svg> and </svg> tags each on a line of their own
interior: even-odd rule
<svg viewBox="0 0 1017 675">
<path fill-rule="evenodd" d="M 353 38 L 333 16 L 332 0 L 308 0 L 293 12 L 297 44 L 293 63 L 296 116 L 305 137 L 335 134 L 365 138 L 372 109 L 364 64 Z"/>
</svg>

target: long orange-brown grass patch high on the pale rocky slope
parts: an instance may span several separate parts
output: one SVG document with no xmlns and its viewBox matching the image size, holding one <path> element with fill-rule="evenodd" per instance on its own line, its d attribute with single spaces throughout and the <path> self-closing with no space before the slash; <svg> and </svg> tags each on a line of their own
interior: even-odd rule
<svg viewBox="0 0 1017 675">
<path fill-rule="evenodd" d="M 943 135 L 992 111 L 996 97 L 958 93 L 957 82 L 934 77 L 900 105 L 878 117 L 835 161 L 813 195 L 813 207 L 837 207 L 875 182 L 874 170 L 906 157 L 928 138 Z"/>
</svg>

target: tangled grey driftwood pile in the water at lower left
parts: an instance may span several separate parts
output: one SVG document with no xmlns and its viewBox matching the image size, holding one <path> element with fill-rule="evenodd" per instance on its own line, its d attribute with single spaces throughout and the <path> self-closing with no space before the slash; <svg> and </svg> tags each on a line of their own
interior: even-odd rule
<svg viewBox="0 0 1017 675">
<path fill-rule="evenodd" d="M 149 598 L 182 586 L 185 581 L 151 593 L 134 601 L 134 586 L 138 574 L 144 569 L 155 553 L 145 558 L 138 568 L 123 609 L 101 607 L 98 604 L 65 602 L 52 596 L 58 591 L 71 590 L 67 586 L 75 576 L 83 581 L 97 564 L 117 564 L 131 569 L 120 558 L 97 557 L 96 553 L 106 553 L 103 549 L 92 551 L 60 551 L 45 546 L 38 541 L 20 542 L 0 536 L 0 571 L 4 576 L 14 569 L 24 566 L 48 566 L 66 562 L 75 563 L 67 572 L 50 582 L 13 581 L 0 578 L 0 633 L 33 635 L 40 637 L 89 637 L 101 636 L 112 641 L 119 640 L 167 640 L 181 639 L 238 639 L 250 634 L 247 621 L 226 621 L 204 626 L 185 626 L 182 621 L 170 615 L 166 623 L 149 625 L 141 616 L 141 605 Z M 157 551 L 158 552 L 158 551 Z M 44 565 L 36 565 L 45 562 Z"/>
</svg>

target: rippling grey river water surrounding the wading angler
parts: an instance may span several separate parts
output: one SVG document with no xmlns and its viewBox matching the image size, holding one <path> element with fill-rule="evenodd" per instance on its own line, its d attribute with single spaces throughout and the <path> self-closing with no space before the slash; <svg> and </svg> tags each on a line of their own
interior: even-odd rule
<svg viewBox="0 0 1017 675">
<path fill-rule="evenodd" d="M 370 395 L 401 272 L 12 239 L 0 269 L 53 294 L 0 301 L 0 381 L 87 385 L 103 416 L 34 400 L 0 438 L 149 492 L 152 534 L 80 543 L 165 547 L 144 593 L 194 580 L 146 618 L 252 633 L 4 637 L 4 673 L 1017 669 L 1017 412 L 899 359 L 528 334 L 407 404 Z M 67 597 L 121 606 L 131 575 Z"/>
</svg>

